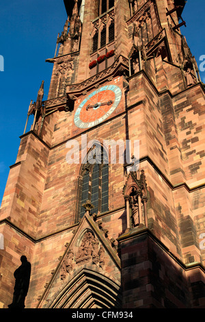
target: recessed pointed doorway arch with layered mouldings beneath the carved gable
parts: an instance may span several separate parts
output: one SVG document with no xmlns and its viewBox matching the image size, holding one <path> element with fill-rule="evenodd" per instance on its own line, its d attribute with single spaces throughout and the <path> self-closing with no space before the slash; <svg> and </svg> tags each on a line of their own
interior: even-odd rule
<svg viewBox="0 0 205 322">
<path fill-rule="evenodd" d="M 121 286 L 97 271 L 82 269 L 48 308 L 122 308 Z"/>
</svg>

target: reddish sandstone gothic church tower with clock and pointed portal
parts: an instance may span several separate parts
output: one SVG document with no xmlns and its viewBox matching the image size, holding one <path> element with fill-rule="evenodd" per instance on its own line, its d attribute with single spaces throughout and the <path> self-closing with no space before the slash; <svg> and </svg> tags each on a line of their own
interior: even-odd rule
<svg viewBox="0 0 205 322">
<path fill-rule="evenodd" d="M 184 0 L 64 0 L 0 213 L 0 304 L 204 308 L 205 101 Z M 32 99 L 32 98 L 31 98 Z M 35 98 L 34 98 L 35 100 Z"/>
</svg>

